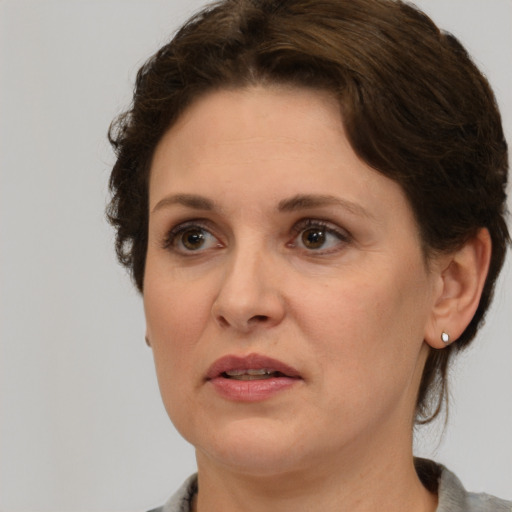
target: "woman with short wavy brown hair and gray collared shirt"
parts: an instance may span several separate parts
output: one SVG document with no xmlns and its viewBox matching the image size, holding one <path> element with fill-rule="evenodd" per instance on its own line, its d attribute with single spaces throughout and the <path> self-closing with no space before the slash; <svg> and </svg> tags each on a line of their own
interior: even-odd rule
<svg viewBox="0 0 512 512">
<path fill-rule="evenodd" d="M 139 71 L 109 215 L 198 475 L 161 509 L 510 510 L 414 460 L 503 264 L 507 146 L 389 0 L 224 0 Z"/>
</svg>

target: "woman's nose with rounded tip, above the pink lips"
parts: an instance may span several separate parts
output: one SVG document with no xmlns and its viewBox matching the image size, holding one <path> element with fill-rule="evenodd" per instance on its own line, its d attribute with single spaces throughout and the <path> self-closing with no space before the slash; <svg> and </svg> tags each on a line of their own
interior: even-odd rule
<svg viewBox="0 0 512 512">
<path fill-rule="evenodd" d="M 272 255 L 250 248 L 236 251 L 226 263 L 212 305 L 215 321 L 240 333 L 278 325 L 285 316 L 282 283 Z"/>
</svg>

